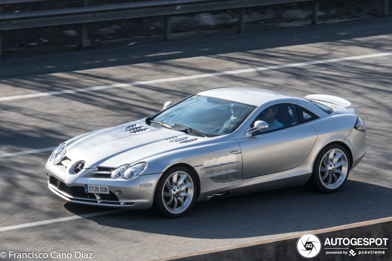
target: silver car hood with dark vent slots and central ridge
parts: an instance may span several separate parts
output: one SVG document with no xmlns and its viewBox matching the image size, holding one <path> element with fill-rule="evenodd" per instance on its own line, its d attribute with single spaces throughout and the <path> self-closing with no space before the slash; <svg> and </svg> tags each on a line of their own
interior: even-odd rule
<svg viewBox="0 0 392 261">
<path fill-rule="evenodd" d="M 85 168 L 119 167 L 145 158 L 193 146 L 206 138 L 168 128 L 155 128 L 145 120 L 94 131 L 67 141 L 66 156 L 72 163 L 84 160 Z"/>
</svg>

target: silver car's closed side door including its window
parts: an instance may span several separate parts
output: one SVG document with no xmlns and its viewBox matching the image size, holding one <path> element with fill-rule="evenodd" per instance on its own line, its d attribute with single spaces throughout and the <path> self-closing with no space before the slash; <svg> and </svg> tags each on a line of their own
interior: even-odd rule
<svg viewBox="0 0 392 261">
<path fill-rule="evenodd" d="M 275 121 L 267 121 L 265 111 L 273 106 L 278 108 Z M 297 108 L 289 103 L 266 108 L 254 122 L 265 120 L 270 127 L 237 140 L 242 152 L 243 179 L 292 169 L 307 158 L 318 134 L 309 124 L 302 123 Z"/>
</svg>

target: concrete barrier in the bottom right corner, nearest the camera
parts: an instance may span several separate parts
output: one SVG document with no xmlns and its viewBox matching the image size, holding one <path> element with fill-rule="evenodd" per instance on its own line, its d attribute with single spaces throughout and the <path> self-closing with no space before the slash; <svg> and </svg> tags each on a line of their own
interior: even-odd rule
<svg viewBox="0 0 392 261">
<path fill-rule="evenodd" d="M 328 229 L 320 229 L 313 231 L 302 231 L 290 233 L 285 236 L 277 236 L 274 239 L 257 241 L 243 245 L 236 245 L 226 248 L 216 248 L 203 252 L 195 252 L 180 256 L 172 256 L 169 258 L 154 259 L 154 261 L 281 261 L 281 260 L 309 260 L 299 255 L 296 245 L 298 238 L 303 234 L 315 234 L 321 240 L 321 251 L 318 256 L 311 260 L 356 260 L 356 261 L 372 261 L 372 260 L 392 260 L 392 217 L 382 218 L 378 220 L 370 220 L 365 222 L 342 225 Z M 329 238 L 388 238 L 386 245 L 377 246 L 373 244 L 371 247 L 387 248 L 378 249 L 384 251 L 385 254 L 359 254 L 359 251 L 375 251 L 377 249 L 357 249 L 369 248 L 369 246 L 345 246 L 347 254 L 326 254 L 330 249 L 324 246 L 326 239 Z M 346 241 L 347 242 L 347 241 Z M 379 241 L 378 241 L 379 242 Z M 335 246 L 338 247 L 338 246 Z M 350 250 L 354 251 L 354 255 L 350 255 Z M 336 250 L 336 249 L 335 249 Z M 377 251 L 378 251 L 377 250 Z M 340 250 L 339 250 L 340 251 Z"/>
</svg>

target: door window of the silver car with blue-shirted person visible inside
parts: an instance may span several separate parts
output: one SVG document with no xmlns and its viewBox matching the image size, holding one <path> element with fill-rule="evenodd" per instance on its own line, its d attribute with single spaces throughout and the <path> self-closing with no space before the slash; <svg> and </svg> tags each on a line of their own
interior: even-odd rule
<svg viewBox="0 0 392 261">
<path fill-rule="evenodd" d="M 279 103 L 269 106 L 254 119 L 252 127 L 256 121 L 267 122 L 268 129 L 256 131 L 253 135 L 289 128 L 299 123 L 296 106 L 290 103 Z"/>
</svg>

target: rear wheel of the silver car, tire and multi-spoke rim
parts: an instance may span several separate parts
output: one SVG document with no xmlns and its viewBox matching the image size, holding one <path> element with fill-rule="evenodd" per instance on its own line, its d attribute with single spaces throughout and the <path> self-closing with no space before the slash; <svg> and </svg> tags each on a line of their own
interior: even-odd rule
<svg viewBox="0 0 392 261">
<path fill-rule="evenodd" d="M 309 181 L 322 193 L 337 192 L 346 183 L 350 166 L 350 157 L 343 146 L 327 145 L 317 156 Z"/>
</svg>

